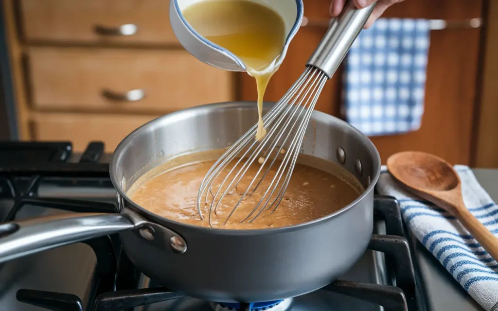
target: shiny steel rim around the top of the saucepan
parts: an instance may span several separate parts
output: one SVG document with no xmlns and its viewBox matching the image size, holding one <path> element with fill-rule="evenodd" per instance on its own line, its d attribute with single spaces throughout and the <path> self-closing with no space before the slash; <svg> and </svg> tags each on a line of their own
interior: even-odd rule
<svg viewBox="0 0 498 311">
<path fill-rule="evenodd" d="M 269 108 L 273 104 L 275 104 L 275 103 L 263 102 L 263 107 Z M 118 192 L 119 196 L 121 196 L 122 200 L 126 200 L 127 203 L 131 205 L 131 208 L 134 209 L 135 211 L 139 212 L 142 215 L 145 214 L 145 215 L 147 215 L 147 217 L 149 217 L 151 219 L 159 219 L 161 222 L 171 223 L 171 224 L 174 224 L 177 226 L 179 225 L 179 226 L 188 227 L 191 229 L 207 230 L 207 231 L 209 231 L 209 233 L 212 233 L 212 234 L 248 235 L 248 233 L 250 233 L 251 235 L 257 235 L 257 234 L 266 234 L 266 233 L 270 233 L 270 232 L 281 233 L 281 232 L 286 232 L 286 231 L 294 231 L 294 230 L 302 229 L 304 227 L 308 227 L 308 226 L 311 226 L 313 224 L 325 221 L 329 218 L 336 217 L 337 215 L 344 213 L 347 210 L 349 210 L 350 208 L 357 205 L 359 202 L 364 200 L 365 197 L 367 197 L 371 191 L 373 191 L 373 188 L 375 187 L 375 184 L 377 183 L 377 180 L 380 176 L 380 170 L 381 170 L 380 155 L 378 153 L 377 148 L 373 144 L 373 142 L 365 134 L 363 134 L 360 130 L 358 130 L 357 128 L 355 128 L 351 124 L 347 123 L 346 121 L 341 120 L 333 115 L 315 110 L 315 111 L 313 111 L 313 114 L 312 114 L 312 118 L 311 118 L 312 120 L 313 119 L 321 119 L 321 118 L 334 118 L 335 119 L 334 121 L 340 123 L 341 125 L 348 128 L 348 130 L 353 131 L 358 135 L 361 143 L 365 144 L 365 146 L 367 147 L 367 149 L 370 152 L 370 155 L 373 157 L 372 160 L 374 162 L 374 165 L 375 165 L 375 160 L 377 160 L 377 164 L 376 164 L 377 167 L 373 168 L 374 173 L 373 173 L 373 176 L 371 177 L 370 185 L 365 189 L 365 191 L 358 198 L 356 198 L 353 202 L 351 202 L 347 206 L 342 207 L 341 209 L 336 210 L 330 214 L 327 214 L 327 215 L 320 217 L 320 218 L 317 218 L 317 219 L 313 219 L 310 221 L 298 223 L 298 224 L 291 225 L 291 226 L 285 226 L 285 227 L 265 228 L 265 229 L 223 229 L 223 228 L 216 228 L 216 227 L 197 226 L 197 225 L 183 223 L 180 221 L 176 221 L 173 219 L 169 219 L 169 218 L 160 216 L 156 213 L 153 213 L 153 212 L 135 204 L 131 200 L 131 198 L 129 198 L 124 193 L 124 191 L 120 185 L 121 183 L 118 180 L 118 176 L 117 176 L 118 175 L 117 162 L 118 162 L 118 159 L 120 158 L 120 156 L 123 155 L 124 148 L 128 146 L 129 141 L 133 138 L 133 136 L 137 135 L 137 133 L 141 132 L 144 128 L 151 127 L 154 124 L 160 123 L 164 119 L 167 119 L 167 118 L 175 118 L 178 116 L 182 116 L 184 114 L 188 115 L 188 113 L 191 113 L 192 111 L 196 111 L 196 110 L 202 110 L 202 109 L 212 110 L 213 108 L 230 108 L 230 107 L 240 107 L 240 108 L 251 107 L 252 108 L 255 105 L 256 105 L 256 102 L 252 102 L 252 101 L 221 102 L 221 103 L 198 105 L 198 106 L 178 110 L 175 112 L 171 112 L 171 113 L 159 116 L 159 117 L 141 125 L 140 127 L 136 128 L 135 130 L 133 130 L 126 137 L 124 137 L 124 139 L 118 144 L 118 146 L 116 147 L 116 149 L 113 153 L 112 160 L 111 160 L 111 163 L 109 165 L 109 174 L 111 176 L 111 182 L 113 183 L 113 186 L 116 189 L 116 191 Z M 158 162 L 158 163 L 162 163 L 162 162 Z"/>
</svg>

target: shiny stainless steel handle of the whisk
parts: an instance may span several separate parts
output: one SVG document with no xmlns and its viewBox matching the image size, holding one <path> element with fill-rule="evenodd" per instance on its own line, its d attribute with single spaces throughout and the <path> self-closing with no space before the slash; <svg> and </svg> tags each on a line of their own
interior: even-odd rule
<svg viewBox="0 0 498 311">
<path fill-rule="evenodd" d="M 332 19 L 327 33 L 317 46 L 306 65 L 311 65 L 322 70 L 329 79 L 332 78 L 337 68 L 349 51 L 356 37 L 365 26 L 373 4 L 358 9 L 352 0 L 346 1 L 341 14 Z"/>
</svg>

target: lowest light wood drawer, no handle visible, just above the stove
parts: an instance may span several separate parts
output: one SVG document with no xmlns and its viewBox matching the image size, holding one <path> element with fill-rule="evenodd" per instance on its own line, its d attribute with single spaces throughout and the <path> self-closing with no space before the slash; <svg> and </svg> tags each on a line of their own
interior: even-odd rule
<svg viewBox="0 0 498 311">
<path fill-rule="evenodd" d="M 36 113 L 32 121 L 32 138 L 40 141 L 73 142 L 82 152 L 92 140 L 103 141 L 106 152 L 113 152 L 126 135 L 156 116 Z"/>
</svg>

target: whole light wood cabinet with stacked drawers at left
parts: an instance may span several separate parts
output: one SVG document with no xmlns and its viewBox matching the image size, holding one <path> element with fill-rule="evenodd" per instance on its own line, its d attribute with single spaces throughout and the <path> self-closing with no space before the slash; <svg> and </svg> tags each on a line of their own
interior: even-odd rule
<svg viewBox="0 0 498 311">
<path fill-rule="evenodd" d="M 2 1 L 18 127 L 25 140 L 106 151 L 149 120 L 236 100 L 236 75 L 185 51 L 169 0 Z"/>
</svg>

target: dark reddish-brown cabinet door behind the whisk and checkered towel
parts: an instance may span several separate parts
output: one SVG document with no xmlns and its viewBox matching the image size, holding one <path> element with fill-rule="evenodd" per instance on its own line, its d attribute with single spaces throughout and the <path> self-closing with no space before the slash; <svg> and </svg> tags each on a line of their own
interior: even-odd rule
<svg viewBox="0 0 498 311">
<path fill-rule="evenodd" d="M 310 24 L 329 18 L 330 0 L 304 0 L 304 16 Z M 383 17 L 467 21 L 482 17 L 482 1 L 406 0 L 390 7 Z M 301 75 L 306 61 L 325 34 L 326 27 L 303 26 L 290 44 L 278 72 L 270 81 L 264 100 L 276 102 Z M 417 131 L 371 137 L 385 163 L 391 154 L 419 150 L 436 154 L 451 163 L 470 164 L 481 28 L 464 24 L 431 31 L 424 115 Z M 316 109 L 341 116 L 340 68 L 327 82 Z M 256 99 L 254 79 L 240 76 L 241 100 Z"/>
</svg>

